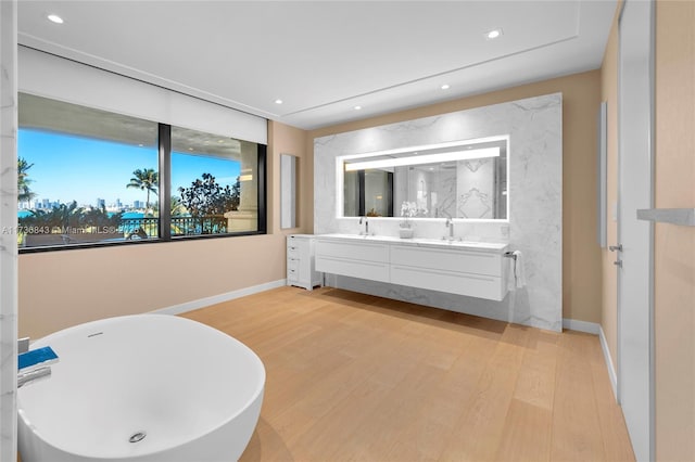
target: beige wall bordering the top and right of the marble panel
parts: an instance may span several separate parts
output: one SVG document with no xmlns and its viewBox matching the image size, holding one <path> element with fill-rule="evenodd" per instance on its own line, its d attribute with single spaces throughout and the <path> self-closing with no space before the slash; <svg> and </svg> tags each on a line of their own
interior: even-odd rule
<svg viewBox="0 0 695 462">
<path fill-rule="evenodd" d="M 314 138 L 331 133 L 555 92 L 563 93 L 563 318 L 597 323 L 602 301 L 602 260 L 595 238 L 599 70 L 316 129 L 308 133 L 309 149 Z"/>
</svg>

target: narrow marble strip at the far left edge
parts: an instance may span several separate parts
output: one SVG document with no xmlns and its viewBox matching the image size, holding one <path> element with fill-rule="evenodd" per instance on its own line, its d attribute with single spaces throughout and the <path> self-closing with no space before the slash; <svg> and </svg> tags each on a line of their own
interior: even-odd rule
<svg viewBox="0 0 695 462">
<path fill-rule="evenodd" d="M 16 1 L 0 1 L 0 460 L 16 460 Z"/>
</svg>

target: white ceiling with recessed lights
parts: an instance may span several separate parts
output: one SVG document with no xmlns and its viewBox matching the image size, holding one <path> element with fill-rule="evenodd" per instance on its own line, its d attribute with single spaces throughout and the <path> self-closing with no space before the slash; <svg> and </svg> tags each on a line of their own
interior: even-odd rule
<svg viewBox="0 0 695 462">
<path fill-rule="evenodd" d="M 598 68 L 615 10 L 616 0 L 20 0 L 18 41 L 313 129 Z M 488 40 L 495 28 L 503 35 Z"/>
</svg>

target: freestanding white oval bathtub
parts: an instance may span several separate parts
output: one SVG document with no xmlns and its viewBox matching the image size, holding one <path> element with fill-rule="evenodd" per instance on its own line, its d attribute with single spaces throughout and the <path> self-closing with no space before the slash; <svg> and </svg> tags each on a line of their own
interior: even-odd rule
<svg viewBox="0 0 695 462">
<path fill-rule="evenodd" d="M 258 422 L 265 369 L 241 342 L 168 315 L 51 334 L 60 361 L 18 389 L 23 462 L 236 461 Z"/>
</svg>

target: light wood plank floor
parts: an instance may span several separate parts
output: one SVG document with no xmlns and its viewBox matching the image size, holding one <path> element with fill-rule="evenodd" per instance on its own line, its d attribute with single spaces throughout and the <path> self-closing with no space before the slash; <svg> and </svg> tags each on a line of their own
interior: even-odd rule
<svg viewBox="0 0 695 462">
<path fill-rule="evenodd" d="M 265 364 L 241 461 L 634 460 L 594 335 L 326 287 L 184 316 Z"/>
</svg>

